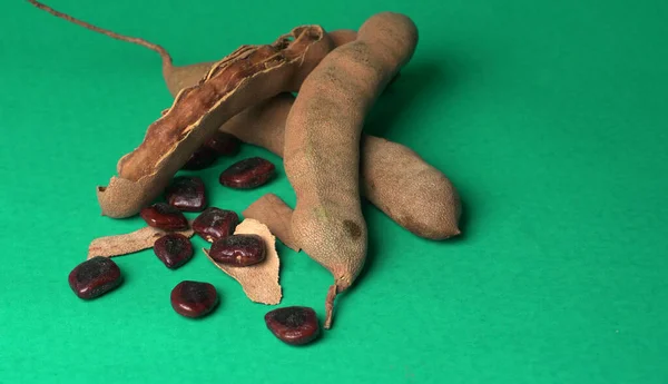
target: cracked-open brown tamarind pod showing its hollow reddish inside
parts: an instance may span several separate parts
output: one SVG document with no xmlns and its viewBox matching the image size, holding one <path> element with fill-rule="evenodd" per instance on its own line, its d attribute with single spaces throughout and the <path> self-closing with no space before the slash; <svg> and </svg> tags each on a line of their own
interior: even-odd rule
<svg viewBox="0 0 668 384">
<path fill-rule="evenodd" d="M 298 90 L 330 50 L 325 31 L 306 26 L 268 46 L 243 46 L 218 61 L 200 82 L 179 91 L 139 147 L 120 158 L 119 176 L 98 187 L 102 215 L 136 215 L 225 121 L 262 100 Z"/>
</svg>

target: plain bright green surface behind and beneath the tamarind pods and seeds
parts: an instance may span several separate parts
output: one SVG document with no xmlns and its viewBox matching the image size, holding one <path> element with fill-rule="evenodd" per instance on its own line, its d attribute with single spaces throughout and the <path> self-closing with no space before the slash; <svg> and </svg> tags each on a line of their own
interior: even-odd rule
<svg viewBox="0 0 668 384">
<path fill-rule="evenodd" d="M 0 22 L 2 383 L 667 383 L 668 2 L 176 0 L 49 4 L 164 45 L 177 65 L 267 43 L 302 23 L 353 28 L 394 10 L 420 43 L 366 129 L 442 169 L 464 234 L 429 242 L 365 204 L 364 275 L 334 328 L 289 347 L 271 308 L 198 252 L 168 270 L 115 258 L 124 286 L 78 299 L 67 275 L 88 243 L 143 226 L 100 216 L 95 187 L 169 107 L 158 56 L 24 1 Z M 342 111 L 343 114 L 343 111 Z M 238 158 L 267 151 L 246 146 Z M 220 187 L 243 210 L 274 191 Z M 189 215 L 190 217 L 193 215 Z M 195 239 L 199 249 L 204 242 Z M 331 275 L 283 245 L 281 306 L 322 316 Z M 222 305 L 187 321 L 169 292 L 212 282 Z"/>
</svg>

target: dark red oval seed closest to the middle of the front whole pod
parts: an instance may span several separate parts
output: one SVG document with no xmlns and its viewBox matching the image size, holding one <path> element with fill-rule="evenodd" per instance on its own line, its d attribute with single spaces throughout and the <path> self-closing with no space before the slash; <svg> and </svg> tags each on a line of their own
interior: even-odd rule
<svg viewBox="0 0 668 384">
<path fill-rule="evenodd" d="M 236 189 L 250 189 L 269 181 L 276 173 L 276 167 L 262 157 L 252 157 L 237 161 L 225 169 L 218 181 Z"/>
</svg>

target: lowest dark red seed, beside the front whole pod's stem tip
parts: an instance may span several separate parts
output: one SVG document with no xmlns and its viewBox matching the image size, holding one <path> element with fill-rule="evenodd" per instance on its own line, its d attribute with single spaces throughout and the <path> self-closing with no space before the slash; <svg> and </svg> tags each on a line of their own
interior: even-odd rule
<svg viewBox="0 0 668 384">
<path fill-rule="evenodd" d="M 310 307 L 292 306 L 271 311 L 265 315 L 265 323 L 274 336 L 291 345 L 311 343 L 320 335 L 315 311 Z"/>
</svg>

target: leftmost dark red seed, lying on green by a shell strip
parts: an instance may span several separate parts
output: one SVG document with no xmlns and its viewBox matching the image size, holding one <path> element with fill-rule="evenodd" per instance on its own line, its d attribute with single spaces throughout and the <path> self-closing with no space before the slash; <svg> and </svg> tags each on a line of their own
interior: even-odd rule
<svg viewBox="0 0 668 384">
<path fill-rule="evenodd" d="M 76 266 L 68 282 L 77 296 L 92 299 L 116 289 L 122 283 L 122 276 L 114 260 L 96 256 Z"/>
</svg>

